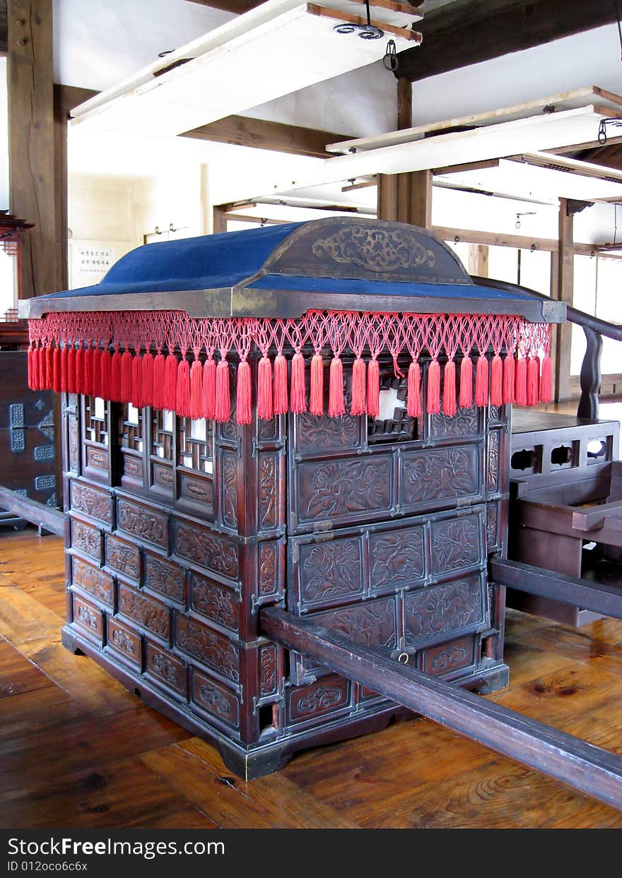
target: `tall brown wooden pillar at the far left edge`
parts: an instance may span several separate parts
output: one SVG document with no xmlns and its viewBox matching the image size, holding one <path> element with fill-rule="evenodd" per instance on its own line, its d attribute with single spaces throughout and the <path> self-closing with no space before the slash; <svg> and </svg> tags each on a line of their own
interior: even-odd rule
<svg viewBox="0 0 622 878">
<path fill-rule="evenodd" d="M 8 0 L 10 210 L 34 223 L 24 235 L 21 298 L 58 284 L 52 0 Z"/>
</svg>

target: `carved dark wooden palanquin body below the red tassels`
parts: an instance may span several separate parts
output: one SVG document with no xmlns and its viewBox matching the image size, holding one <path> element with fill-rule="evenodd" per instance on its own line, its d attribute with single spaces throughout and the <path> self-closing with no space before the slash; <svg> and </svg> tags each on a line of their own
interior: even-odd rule
<svg viewBox="0 0 622 878">
<path fill-rule="evenodd" d="M 466 687 L 507 681 L 487 577 L 505 551 L 505 409 L 412 419 L 390 361 L 380 386 L 381 420 L 249 426 L 67 397 L 64 642 L 244 777 L 401 710 L 259 637 L 263 605 Z"/>
</svg>

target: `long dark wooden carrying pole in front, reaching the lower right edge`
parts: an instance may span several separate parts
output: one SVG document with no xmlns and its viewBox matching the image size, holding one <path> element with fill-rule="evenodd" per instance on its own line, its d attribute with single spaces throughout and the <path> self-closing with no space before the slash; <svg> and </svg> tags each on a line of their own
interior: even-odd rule
<svg viewBox="0 0 622 878">
<path fill-rule="evenodd" d="M 303 652 L 447 729 L 622 810 L 622 758 L 616 754 L 400 665 L 308 619 L 264 608 L 259 620 L 262 633 L 288 649 Z"/>
</svg>

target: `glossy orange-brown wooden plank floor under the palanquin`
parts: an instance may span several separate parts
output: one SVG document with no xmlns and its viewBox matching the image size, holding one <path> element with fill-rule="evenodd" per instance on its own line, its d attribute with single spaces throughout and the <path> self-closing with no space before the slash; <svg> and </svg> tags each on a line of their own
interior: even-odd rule
<svg viewBox="0 0 622 878">
<path fill-rule="evenodd" d="M 60 539 L 0 530 L 0 826 L 620 827 L 622 814 L 426 720 L 244 783 L 60 642 Z M 496 702 L 622 752 L 622 623 L 510 613 Z"/>
</svg>

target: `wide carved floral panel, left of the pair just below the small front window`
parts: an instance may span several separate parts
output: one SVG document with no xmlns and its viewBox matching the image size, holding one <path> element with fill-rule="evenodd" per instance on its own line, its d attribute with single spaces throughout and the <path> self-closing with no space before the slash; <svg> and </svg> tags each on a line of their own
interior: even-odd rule
<svg viewBox="0 0 622 878">
<path fill-rule="evenodd" d="M 393 458 L 301 463 L 296 468 L 300 523 L 329 519 L 334 524 L 364 520 L 389 510 L 393 502 Z"/>
</svg>

